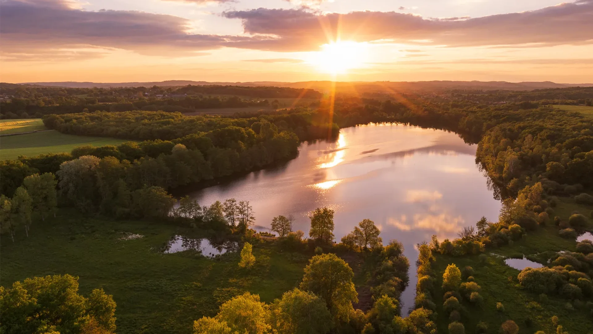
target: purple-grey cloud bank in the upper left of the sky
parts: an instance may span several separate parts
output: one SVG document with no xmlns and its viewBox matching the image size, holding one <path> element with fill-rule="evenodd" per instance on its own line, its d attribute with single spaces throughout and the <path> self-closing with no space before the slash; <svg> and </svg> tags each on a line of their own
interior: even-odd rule
<svg viewBox="0 0 593 334">
<path fill-rule="evenodd" d="M 149 55 L 196 55 L 254 37 L 189 33 L 190 21 L 140 11 L 84 11 L 60 0 L 3 0 L 2 53 L 99 46 Z M 256 37 L 257 39 L 257 37 Z"/>
</svg>

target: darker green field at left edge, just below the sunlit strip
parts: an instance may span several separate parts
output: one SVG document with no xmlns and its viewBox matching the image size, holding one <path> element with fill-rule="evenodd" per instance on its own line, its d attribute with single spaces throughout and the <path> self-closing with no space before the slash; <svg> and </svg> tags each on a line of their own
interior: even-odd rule
<svg viewBox="0 0 593 334">
<path fill-rule="evenodd" d="M 104 137 L 75 136 L 58 131 L 20 134 L 0 137 L 0 159 L 16 159 L 18 156 L 36 156 L 46 153 L 70 152 L 75 147 L 92 145 L 117 145 L 126 140 Z"/>
</svg>

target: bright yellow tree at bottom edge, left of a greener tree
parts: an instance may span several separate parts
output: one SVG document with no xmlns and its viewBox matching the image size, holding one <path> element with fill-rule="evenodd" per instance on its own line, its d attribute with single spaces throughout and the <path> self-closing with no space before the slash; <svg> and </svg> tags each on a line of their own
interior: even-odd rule
<svg viewBox="0 0 593 334">
<path fill-rule="evenodd" d="M 238 295 L 221 305 L 216 319 L 227 323 L 232 333 L 264 334 L 270 329 L 267 324 L 269 307 L 260 302 L 259 295 L 249 292 Z"/>
</svg>

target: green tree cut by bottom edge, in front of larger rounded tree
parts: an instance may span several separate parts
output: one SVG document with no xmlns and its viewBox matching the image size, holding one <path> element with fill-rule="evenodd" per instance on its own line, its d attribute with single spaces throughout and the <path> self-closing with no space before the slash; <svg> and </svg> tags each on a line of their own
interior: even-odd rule
<svg viewBox="0 0 593 334">
<path fill-rule="evenodd" d="M 333 327 L 326 304 L 317 295 L 294 288 L 275 300 L 271 310 L 272 328 L 278 334 L 324 334 Z"/>
</svg>

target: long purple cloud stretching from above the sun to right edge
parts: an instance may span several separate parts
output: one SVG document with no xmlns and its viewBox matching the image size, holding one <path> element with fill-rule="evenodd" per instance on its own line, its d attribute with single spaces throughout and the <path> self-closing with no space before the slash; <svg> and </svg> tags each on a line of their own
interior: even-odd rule
<svg viewBox="0 0 593 334">
<path fill-rule="evenodd" d="M 266 36 L 239 41 L 240 47 L 271 51 L 310 51 L 328 40 L 418 43 L 447 46 L 585 44 L 593 42 L 593 0 L 564 3 L 541 10 L 479 18 L 426 19 L 400 12 L 322 13 L 306 9 L 227 11 L 244 32 Z M 461 19 L 461 20 L 460 20 Z M 337 27 L 340 27 L 339 32 Z"/>
</svg>

